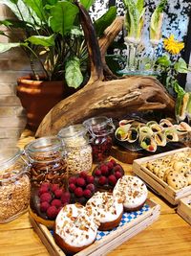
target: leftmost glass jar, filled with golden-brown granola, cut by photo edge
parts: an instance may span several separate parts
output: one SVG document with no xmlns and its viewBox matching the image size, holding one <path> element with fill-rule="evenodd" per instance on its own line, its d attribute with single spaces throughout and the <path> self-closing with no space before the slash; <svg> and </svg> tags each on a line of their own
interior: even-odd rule
<svg viewBox="0 0 191 256">
<path fill-rule="evenodd" d="M 5 223 L 28 210 L 31 184 L 19 148 L 0 150 L 0 167 L 0 223 Z"/>
</svg>

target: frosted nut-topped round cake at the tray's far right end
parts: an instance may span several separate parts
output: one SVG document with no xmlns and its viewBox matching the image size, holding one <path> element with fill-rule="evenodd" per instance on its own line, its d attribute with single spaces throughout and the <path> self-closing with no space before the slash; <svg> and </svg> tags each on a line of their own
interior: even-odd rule
<svg viewBox="0 0 191 256">
<path fill-rule="evenodd" d="M 131 212 L 143 206 L 148 190 L 137 176 L 124 175 L 117 180 L 113 195 L 123 202 L 124 211 Z"/>
</svg>

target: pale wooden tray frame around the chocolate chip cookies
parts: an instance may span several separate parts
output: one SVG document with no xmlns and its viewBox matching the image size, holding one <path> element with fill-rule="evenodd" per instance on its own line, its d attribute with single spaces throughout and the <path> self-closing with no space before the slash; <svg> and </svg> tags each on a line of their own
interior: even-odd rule
<svg viewBox="0 0 191 256">
<path fill-rule="evenodd" d="M 147 168 L 141 166 L 143 163 L 149 162 L 150 160 L 156 160 L 166 155 L 171 155 L 176 152 L 191 151 L 191 148 L 183 148 L 176 151 L 168 151 L 159 153 L 153 156 L 139 158 L 134 160 L 133 172 L 143 179 L 151 188 L 154 189 L 159 195 L 168 200 L 171 204 L 177 205 L 180 198 L 191 195 L 191 185 L 184 187 L 180 190 L 171 188 L 166 182 L 160 179 L 157 175 L 154 175 Z"/>
</svg>

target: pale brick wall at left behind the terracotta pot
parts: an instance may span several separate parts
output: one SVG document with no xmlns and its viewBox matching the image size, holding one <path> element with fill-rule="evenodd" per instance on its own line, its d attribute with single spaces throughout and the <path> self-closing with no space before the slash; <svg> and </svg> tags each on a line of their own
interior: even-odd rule
<svg viewBox="0 0 191 256">
<path fill-rule="evenodd" d="M 4 17 L 11 17 L 11 13 L 0 5 L 0 19 Z M 6 37 L 0 36 L 0 42 L 7 42 Z M 26 126 L 25 110 L 16 97 L 15 86 L 17 78 L 29 71 L 29 61 L 20 49 L 0 54 L 0 148 L 15 145 Z"/>
</svg>

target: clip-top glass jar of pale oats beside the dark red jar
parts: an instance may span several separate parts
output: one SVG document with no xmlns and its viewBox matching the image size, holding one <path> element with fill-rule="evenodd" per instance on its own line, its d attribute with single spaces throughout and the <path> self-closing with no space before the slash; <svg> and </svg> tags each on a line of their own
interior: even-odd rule
<svg viewBox="0 0 191 256">
<path fill-rule="evenodd" d="M 58 137 L 62 139 L 67 151 L 69 175 L 76 175 L 82 171 L 88 173 L 92 169 L 92 148 L 87 133 L 87 129 L 81 124 L 62 128 L 58 132 Z"/>
</svg>

